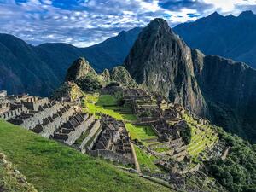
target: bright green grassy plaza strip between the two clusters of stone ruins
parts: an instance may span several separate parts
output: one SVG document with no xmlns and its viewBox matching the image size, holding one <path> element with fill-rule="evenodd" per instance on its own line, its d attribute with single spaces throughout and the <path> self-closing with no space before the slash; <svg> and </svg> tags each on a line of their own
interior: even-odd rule
<svg viewBox="0 0 256 192">
<path fill-rule="evenodd" d="M 108 114 L 114 119 L 123 120 L 125 127 L 130 133 L 131 139 L 137 139 L 137 141 L 144 145 L 149 145 L 153 140 L 157 140 L 154 131 L 148 125 L 135 125 L 137 122 L 137 116 L 131 113 L 131 106 L 120 107 L 118 104 L 119 94 L 117 95 L 101 95 L 99 93 L 86 94 L 84 98 L 84 111 L 87 113 L 93 113 L 96 117 L 100 113 Z M 159 143 L 159 142 L 154 142 Z M 160 171 L 157 166 L 154 165 L 154 156 L 148 156 L 142 149 L 135 147 L 137 153 L 137 160 L 142 168 Z"/>
</svg>

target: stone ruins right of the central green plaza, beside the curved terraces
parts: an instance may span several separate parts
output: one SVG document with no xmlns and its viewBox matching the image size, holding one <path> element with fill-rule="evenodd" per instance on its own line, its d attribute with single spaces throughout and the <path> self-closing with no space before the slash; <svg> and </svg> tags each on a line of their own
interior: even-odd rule
<svg viewBox="0 0 256 192">
<path fill-rule="evenodd" d="M 126 89 L 124 91 L 125 102 L 131 103 L 133 113 L 137 114 L 139 125 L 150 125 L 159 143 L 149 144 L 146 152 L 158 156 L 155 162 L 169 172 L 185 173 L 194 172 L 199 169 L 199 165 L 193 169 L 186 170 L 180 166 L 180 162 L 188 162 L 189 154 L 187 145 L 184 143 L 180 132 L 188 129 L 186 121 L 183 120 L 185 108 L 179 104 L 168 102 L 164 96 L 158 94 L 148 94 L 141 89 Z M 205 119 L 194 117 L 199 124 L 207 125 Z M 168 150 L 158 153 L 157 148 L 168 148 Z"/>
</svg>

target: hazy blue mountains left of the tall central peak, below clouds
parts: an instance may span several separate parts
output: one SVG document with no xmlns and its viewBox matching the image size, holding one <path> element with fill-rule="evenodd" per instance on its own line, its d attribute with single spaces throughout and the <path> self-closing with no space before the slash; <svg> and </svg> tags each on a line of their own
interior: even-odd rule
<svg viewBox="0 0 256 192">
<path fill-rule="evenodd" d="M 123 63 L 140 30 L 120 32 L 88 48 L 70 44 L 32 46 L 20 38 L 0 34 L 0 89 L 9 94 L 49 96 L 64 81 L 70 63 L 79 57 L 90 61 L 97 72 Z"/>
</svg>

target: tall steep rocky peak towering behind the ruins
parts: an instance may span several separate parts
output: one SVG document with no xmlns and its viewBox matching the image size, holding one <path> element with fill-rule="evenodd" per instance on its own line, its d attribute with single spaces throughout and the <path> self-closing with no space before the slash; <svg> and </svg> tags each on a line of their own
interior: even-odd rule
<svg viewBox="0 0 256 192">
<path fill-rule="evenodd" d="M 166 20 L 155 19 L 139 34 L 125 59 L 138 84 L 204 115 L 207 108 L 194 77 L 190 49 Z"/>
</svg>

